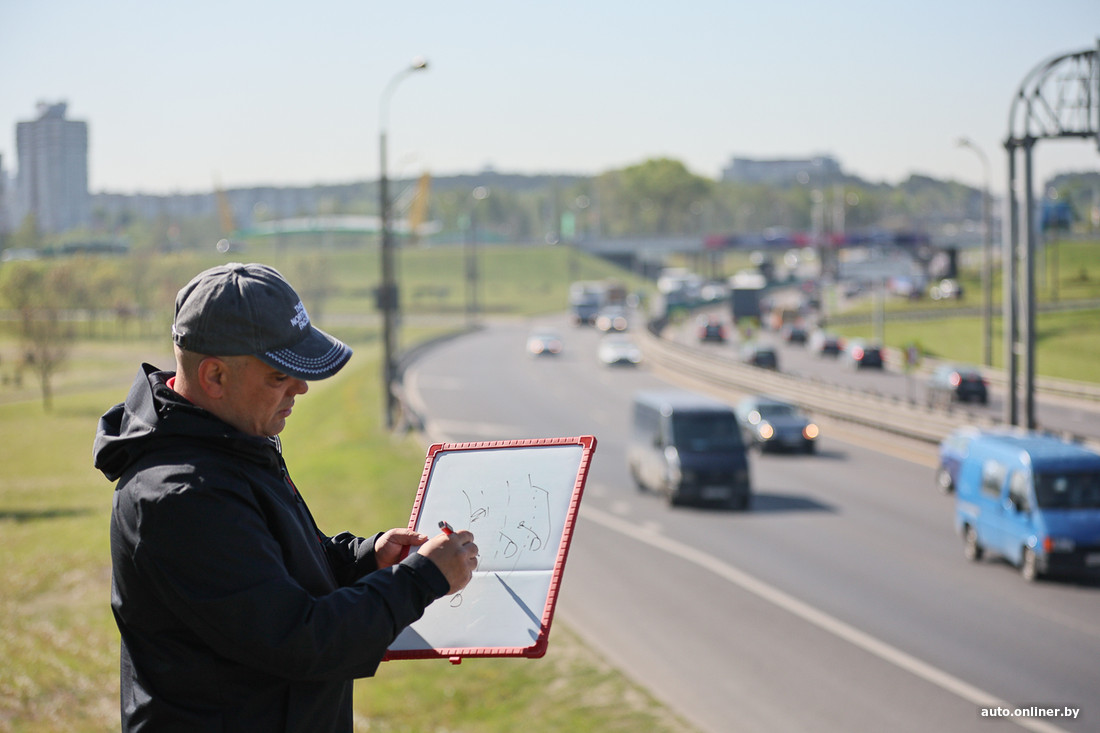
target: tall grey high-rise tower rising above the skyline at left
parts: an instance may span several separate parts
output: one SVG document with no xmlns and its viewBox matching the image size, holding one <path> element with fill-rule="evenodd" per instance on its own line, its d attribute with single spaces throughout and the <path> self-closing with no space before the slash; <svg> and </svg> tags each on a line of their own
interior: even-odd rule
<svg viewBox="0 0 1100 733">
<path fill-rule="evenodd" d="M 15 227 L 29 214 L 43 233 L 88 221 L 88 123 L 65 119 L 67 109 L 66 102 L 38 102 L 37 119 L 15 124 Z"/>
</svg>

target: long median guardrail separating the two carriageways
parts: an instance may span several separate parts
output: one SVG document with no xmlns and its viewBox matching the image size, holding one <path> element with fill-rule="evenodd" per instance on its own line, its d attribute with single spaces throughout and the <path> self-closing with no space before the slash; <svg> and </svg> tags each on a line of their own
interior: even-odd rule
<svg viewBox="0 0 1100 733">
<path fill-rule="evenodd" d="M 744 394 L 773 394 L 816 415 L 925 442 L 939 442 L 964 425 L 993 427 L 1001 424 L 989 415 L 964 407 L 930 407 L 909 397 L 871 394 L 743 364 L 729 357 L 662 338 L 663 327 L 664 324 L 658 320 L 651 322 L 649 329 L 639 331 L 646 359 L 681 382 L 692 382 L 730 401 Z M 1100 449 L 1100 441 L 1071 435 L 1063 437 Z"/>
</svg>

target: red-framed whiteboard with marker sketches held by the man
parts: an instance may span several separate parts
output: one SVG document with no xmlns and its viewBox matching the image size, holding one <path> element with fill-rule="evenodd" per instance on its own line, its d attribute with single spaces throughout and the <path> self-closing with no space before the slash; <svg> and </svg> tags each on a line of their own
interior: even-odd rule
<svg viewBox="0 0 1100 733">
<path fill-rule="evenodd" d="M 470 529 L 473 579 L 430 604 L 386 659 L 546 654 L 558 589 L 596 439 L 435 444 L 409 527 Z M 415 550 L 414 550 L 415 551 Z"/>
</svg>

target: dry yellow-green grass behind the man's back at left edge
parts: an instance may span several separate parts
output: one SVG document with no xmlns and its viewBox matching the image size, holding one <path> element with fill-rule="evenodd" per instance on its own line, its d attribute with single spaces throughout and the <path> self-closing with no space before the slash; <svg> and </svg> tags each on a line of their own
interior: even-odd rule
<svg viewBox="0 0 1100 733">
<path fill-rule="evenodd" d="M 118 727 L 110 611 L 111 484 L 90 467 L 118 390 L 0 405 L 0 730 Z"/>
</svg>

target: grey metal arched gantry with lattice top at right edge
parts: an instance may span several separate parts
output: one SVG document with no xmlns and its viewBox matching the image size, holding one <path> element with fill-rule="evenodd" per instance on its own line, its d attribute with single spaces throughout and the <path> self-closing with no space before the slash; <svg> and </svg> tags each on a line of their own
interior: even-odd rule
<svg viewBox="0 0 1100 733">
<path fill-rule="evenodd" d="M 1096 48 L 1064 54 L 1024 77 L 1009 111 L 1009 227 L 1004 234 L 1004 422 L 1037 427 L 1035 420 L 1035 200 L 1032 153 L 1040 140 L 1093 138 L 1100 149 L 1100 41 Z M 1016 199 L 1016 153 L 1024 154 L 1024 206 Z M 1026 232 L 1021 252 L 1020 229 Z M 1019 283 L 1019 261 L 1024 278 Z M 1023 328 L 1018 324 L 1023 311 Z M 1024 358 L 1024 411 L 1019 412 L 1018 355 Z"/>
</svg>

